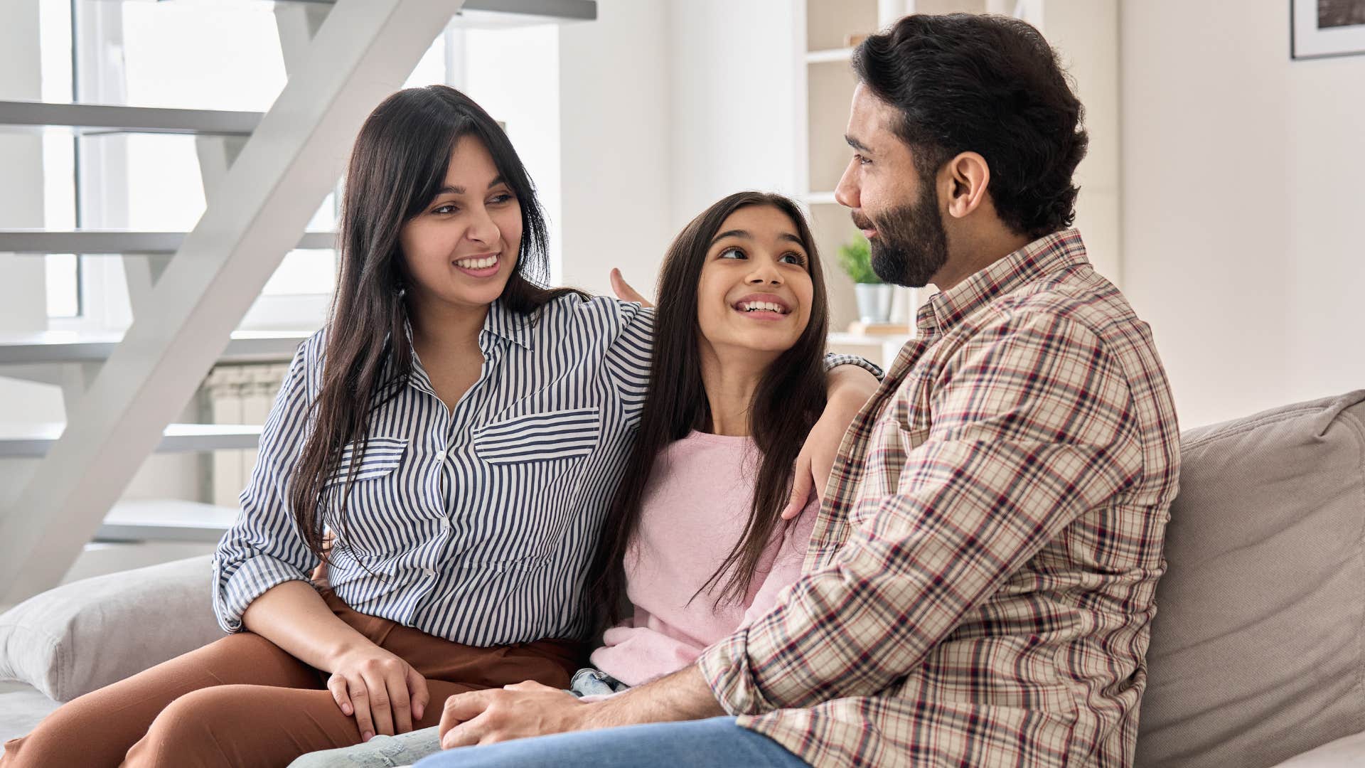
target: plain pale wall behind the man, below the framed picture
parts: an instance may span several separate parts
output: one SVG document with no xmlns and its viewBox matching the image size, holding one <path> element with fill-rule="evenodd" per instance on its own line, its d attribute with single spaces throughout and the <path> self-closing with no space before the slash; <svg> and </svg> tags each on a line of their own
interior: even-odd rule
<svg viewBox="0 0 1365 768">
<path fill-rule="evenodd" d="M 1183 426 L 1365 387 L 1365 56 L 1283 0 L 1123 3 L 1123 287 Z"/>
</svg>

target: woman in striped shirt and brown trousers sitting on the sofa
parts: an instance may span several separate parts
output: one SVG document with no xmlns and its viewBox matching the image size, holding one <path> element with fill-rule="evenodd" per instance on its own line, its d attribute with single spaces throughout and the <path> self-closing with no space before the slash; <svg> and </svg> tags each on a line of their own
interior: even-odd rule
<svg viewBox="0 0 1365 768">
<path fill-rule="evenodd" d="M 457 691 L 568 683 L 651 314 L 535 284 L 531 180 L 444 86 L 366 120 L 341 230 L 330 321 L 295 357 L 214 560 L 235 634 L 68 702 L 0 765 L 280 765 L 435 724 Z"/>
</svg>

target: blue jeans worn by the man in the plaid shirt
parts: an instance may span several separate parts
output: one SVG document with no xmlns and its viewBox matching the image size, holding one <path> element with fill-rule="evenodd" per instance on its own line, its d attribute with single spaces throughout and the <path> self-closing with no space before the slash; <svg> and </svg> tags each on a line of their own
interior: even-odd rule
<svg viewBox="0 0 1365 768">
<path fill-rule="evenodd" d="M 576 731 L 433 754 L 416 768 L 808 768 L 775 741 L 734 717 Z"/>
</svg>

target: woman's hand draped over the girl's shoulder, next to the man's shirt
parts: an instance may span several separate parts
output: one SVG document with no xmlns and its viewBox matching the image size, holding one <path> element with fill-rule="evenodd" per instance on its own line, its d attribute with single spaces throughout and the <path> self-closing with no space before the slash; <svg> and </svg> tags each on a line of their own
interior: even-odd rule
<svg viewBox="0 0 1365 768">
<path fill-rule="evenodd" d="M 867 400 L 876 392 L 878 380 L 856 365 L 841 365 L 829 373 L 830 392 L 824 413 L 805 436 L 805 444 L 796 456 L 796 478 L 792 482 L 792 497 L 782 510 L 782 519 L 801 514 L 811 492 L 824 497 L 824 485 L 834 471 L 834 459 L 839 452 L 844 433 Z"/>
</svg>

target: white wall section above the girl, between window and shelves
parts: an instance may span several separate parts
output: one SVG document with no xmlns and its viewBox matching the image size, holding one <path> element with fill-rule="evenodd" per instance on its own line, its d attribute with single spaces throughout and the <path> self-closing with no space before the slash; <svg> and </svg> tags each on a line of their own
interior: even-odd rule
<svg viewBox="0 0 1365 768">
<path fill-rule="evenodd" d="M 598 0 L 560 31 L 564 283 L 652 295 L 673 235 L 743 189 L 797 191 L 788 0 Z"/>
</svg>

